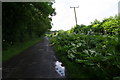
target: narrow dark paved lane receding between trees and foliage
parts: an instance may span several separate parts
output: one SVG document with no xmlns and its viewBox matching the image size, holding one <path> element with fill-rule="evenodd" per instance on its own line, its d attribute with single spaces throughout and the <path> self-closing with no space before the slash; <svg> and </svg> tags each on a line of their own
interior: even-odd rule
<svg viewBox="0 0 120 80">
<path fill-rule="evenodd" d="M 3 64 L 2 78 L 62 78 L 56 71 L 55 53 L 47 37 Z"/>
</svg>

